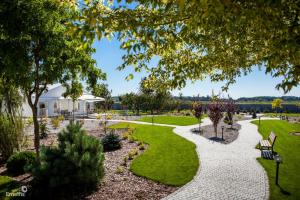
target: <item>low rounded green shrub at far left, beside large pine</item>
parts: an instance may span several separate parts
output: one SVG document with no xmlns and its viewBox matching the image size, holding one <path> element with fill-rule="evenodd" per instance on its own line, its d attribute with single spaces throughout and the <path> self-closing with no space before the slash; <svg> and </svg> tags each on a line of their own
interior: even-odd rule
<svg viewBox="0 0 300 200">
<path fill-rule="evenodd" d="M 31 151 L 23 151 L 13 154 L 7 160 L 7 171 L 13 175 L 20 175 L 25 173 L 25 166 L 33 164 L 35 161 L 35 153 Z"/>
</svg>

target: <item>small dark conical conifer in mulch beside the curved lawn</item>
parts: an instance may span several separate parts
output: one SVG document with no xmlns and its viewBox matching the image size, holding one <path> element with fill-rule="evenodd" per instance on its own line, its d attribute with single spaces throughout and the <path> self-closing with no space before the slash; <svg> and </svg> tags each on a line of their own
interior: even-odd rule
<svg viewBox="0 0 300 200">
<path fill-rule="evenodd" d="M 121 148 L 121 139 L 119 135 L 115 134 L 112 129 L 109 134 L 106 134 L 102 139 L 104 151 L 113 151 Z"/>
</svg>

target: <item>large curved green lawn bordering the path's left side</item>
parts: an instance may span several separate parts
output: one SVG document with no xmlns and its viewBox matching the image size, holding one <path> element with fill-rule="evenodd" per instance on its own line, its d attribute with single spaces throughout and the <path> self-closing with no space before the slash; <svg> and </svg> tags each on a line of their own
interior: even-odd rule
<svg viewBox="0 0 300 200">
<path fill-rule="evenodd" d="M 196 146 L 176 135 L 170 127 L 120 123 L 111 128 L 136 128 L 133 137 L 149 144 L 147 150 L 136 157 L 130 170 L 148 179 L 173 186 L 184 185 L 197 173 L 199 160 Z"/>
</svg>

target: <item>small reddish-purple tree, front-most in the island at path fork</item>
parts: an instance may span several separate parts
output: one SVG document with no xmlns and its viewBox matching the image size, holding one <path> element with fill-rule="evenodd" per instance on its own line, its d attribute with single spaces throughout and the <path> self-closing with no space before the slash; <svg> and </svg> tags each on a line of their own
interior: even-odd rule
<svg viewBox="0 0 300 200">
<path fill-rule="evenodd" d="M 215 100 L 210 104 L 208 104 L 208 117 L 213 123 L 216 137 L 217 137 L 218 124 L 223 118 L 223 110 L 224 110 L 223 103 L 219 100 Z"/>
</svg>

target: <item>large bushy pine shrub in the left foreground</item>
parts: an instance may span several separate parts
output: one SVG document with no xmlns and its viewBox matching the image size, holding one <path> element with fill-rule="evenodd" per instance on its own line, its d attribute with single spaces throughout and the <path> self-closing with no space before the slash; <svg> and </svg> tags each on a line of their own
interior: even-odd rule
<svg viewBox="0 0 300 200">
<path fill-rule="evenodd" d="M 40 165 L 33 165 L 34 191 L 89 190 L 104 174 L 101 142 L 77 122 L 58 134 L 58 147 L 43 147 Z M 35 188 L 36 187 L 36 188 Z"/>
</svg>

